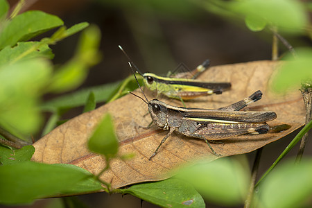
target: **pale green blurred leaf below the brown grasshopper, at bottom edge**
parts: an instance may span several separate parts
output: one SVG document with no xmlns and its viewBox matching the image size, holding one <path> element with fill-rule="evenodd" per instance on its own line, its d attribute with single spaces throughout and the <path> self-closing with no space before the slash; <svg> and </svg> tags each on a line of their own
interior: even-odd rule
<svg viewBox="0 0 312 208">
<path fill-rule="evenodd" d="M 187 180 L 202 196 L 218 205 L 239 205 L 248 192 L 249 175 L 236 160 L 217 159 L 183 168 L 177 177 Z"/>
</svg>

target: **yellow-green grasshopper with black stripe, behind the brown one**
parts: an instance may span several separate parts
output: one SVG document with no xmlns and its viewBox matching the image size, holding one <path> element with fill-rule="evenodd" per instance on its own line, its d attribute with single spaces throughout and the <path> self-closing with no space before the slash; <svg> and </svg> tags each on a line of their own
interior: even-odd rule
<svg viewBox="0 0 312 208">
<path fill-rule="evenodd" d="M 119 48 L 123 51 L 121 46 L 119 46 Z M 125 51 L 123 51 L 123 53 L 128 58 L 129 62 L 137 69 Z M 190 100 L 200 96 L 222 94 L 224 91 L 231 88 L 231 83 L 205 83 L 194 80 L 208 67 L 209 60 L 205 60 L 205 62 L 193 70 L 195 74 L 189 76 L 189 78 L 181 78 L 181 75 L 185 77 L 186 73 L 182 73 L 180 76 L 178 74 L 175 77 L 162 77 L 155 75 L 155 73 L 140 73 L 139 70 L 137 70 L 137 73 L 144 78 L 144 85 L 146 85 L 148 89 L 156 91 L 157 94 L 164 94 L 169 98 Z"/>
</svg>

